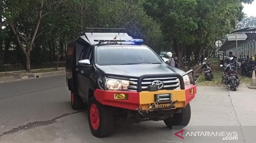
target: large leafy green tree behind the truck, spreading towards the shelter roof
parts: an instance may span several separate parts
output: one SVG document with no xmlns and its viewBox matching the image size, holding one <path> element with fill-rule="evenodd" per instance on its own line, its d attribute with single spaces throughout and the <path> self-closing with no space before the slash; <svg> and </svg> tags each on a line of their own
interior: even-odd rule
<svg viewBox="0 0 256 143">
<path fill-rule="evenodd" d="M 216 38 L 235 28 L 243 17 L 242 2 L 253 0 L 146 0 L 144 9 L 173 41 L 182 68 L 184 50 L 211 49 Z M 200 54 L 200 52 L 197 52 Z"/>
</svg>

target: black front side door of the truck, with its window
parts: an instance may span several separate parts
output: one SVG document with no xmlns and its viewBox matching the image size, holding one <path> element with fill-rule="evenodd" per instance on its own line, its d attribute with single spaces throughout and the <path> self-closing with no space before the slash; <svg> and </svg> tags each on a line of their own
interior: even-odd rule
<svg viewBox="0 0 256 143">
<path fill-rule="evenodd" d="M 93 47 L 85 47 L 82 51 L 79 60 L 89 60 L 89 64 L 79 63 L 76 64 L 76 79 L 77 79 L 77 91 L 78 94 L 87 101 L 89 86 L 91 86 L 90 76 L 93 74 Z"/>
</svg>

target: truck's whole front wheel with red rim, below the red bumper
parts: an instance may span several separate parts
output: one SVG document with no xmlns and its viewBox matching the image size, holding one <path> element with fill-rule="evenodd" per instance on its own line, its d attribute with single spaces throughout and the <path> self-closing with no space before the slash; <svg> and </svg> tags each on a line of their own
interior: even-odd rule
<svg viewBox="0 0 256 143">
<path fill-rule="evenodd" d="M 92 97 L 88 106 L 88 122 L 93 136 L 98 138 L 109 136 L 114 126 L 112 107 L 102 105 Z"/>
</svg>

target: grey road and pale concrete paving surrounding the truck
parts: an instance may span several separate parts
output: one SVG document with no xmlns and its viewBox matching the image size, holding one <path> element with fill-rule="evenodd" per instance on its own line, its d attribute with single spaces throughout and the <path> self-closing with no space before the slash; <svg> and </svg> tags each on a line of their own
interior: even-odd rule
<svg viewBox="0 0 256 143">
<path fill-rule="evenodd" d="M 89 129 L 86 108 L 74 111 L 65 75 L 0 84 L 0 143 L 254 143 L 256 90 L 198 87 L 191 102 L 191 121 L 183 137 L 174 136 L 162 121 L 115 122 L 107 138 L 95 138 Z M 188 132 L 237 132 L 225 136 L 189 136 Z"/>
</svg>

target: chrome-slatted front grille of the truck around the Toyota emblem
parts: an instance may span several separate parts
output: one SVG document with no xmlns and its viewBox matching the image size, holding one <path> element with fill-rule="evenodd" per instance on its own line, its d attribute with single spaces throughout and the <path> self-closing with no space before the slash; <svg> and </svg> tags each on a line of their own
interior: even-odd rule
<svg viewBox="0 0 256 143">
<path fill-rule="evenodd" d="M 129 79 L 130 85 L 128 90 L 136 91 L 137 90 L 137 80 L 138 79 Z M 155 80 L 160 80 L 163 82 L 163 88 L 160 90 L 170 90 L 180 88 L 180 83 L 176 77 L 166 77 L 166 78 L 152 78 L 152 79 L 143 79 L 142 81 L 142 91 L 147 91 L 149 85 L 152 85 L 152 82 Z"/>
</svg>

